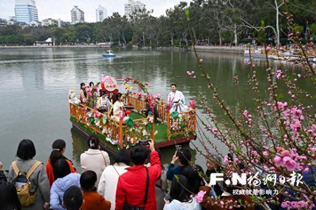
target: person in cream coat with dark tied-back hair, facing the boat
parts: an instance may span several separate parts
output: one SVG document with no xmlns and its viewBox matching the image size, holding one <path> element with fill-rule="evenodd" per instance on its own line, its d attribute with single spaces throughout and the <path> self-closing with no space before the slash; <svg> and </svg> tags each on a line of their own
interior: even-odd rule
<svg viewBox="0 0 316 210">
<path fill-rule="evenodd" d="M 80 155 L 82 173 L 91 170 L 97 174 L 96 187 L 98 187 L 103 170 L 110 165 L 109 154 L 99 149 L 99 142 L 100 140 L 96 135 L 88 136 L 87 144 L 89 149 Z"/>
</svg>

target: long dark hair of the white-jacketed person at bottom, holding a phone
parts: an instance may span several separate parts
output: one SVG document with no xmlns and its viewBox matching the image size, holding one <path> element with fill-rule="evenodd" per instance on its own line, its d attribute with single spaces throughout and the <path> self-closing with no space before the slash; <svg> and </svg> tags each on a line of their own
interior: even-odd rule
<svg viewBox="0 0 316 210">
<path fill-rule="evenodd" d="M 175 177 L 172 179 L 170 196 L 172 199 L 180 202 L 188 202 L 191 200 L 191 192 L 189 192 L 191 187 L 189 181 L 184 175 L 179 175 L 178 177 L 178 180 Z"/>
</svg>

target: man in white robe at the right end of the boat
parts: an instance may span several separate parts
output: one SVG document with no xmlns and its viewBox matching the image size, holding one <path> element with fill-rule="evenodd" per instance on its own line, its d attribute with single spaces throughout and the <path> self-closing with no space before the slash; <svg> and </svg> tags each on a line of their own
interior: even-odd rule
<svg viewBox="0 0 316 210">
<path fill-rule="evenodd" d="M 171 92 L 168 95 L 168 103 L 172 102 L 170 112 L 183 112 L 188 109 L 182 92 L 177 90 L 176 84 L 171 84 Z"/>
</svg>

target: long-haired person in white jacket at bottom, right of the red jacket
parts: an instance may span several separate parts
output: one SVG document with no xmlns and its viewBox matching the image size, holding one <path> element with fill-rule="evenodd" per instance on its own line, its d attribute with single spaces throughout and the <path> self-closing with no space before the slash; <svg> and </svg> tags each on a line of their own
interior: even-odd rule
<svg viewBox="0 0 316 210">
<path fill-rule="evenodd" d="M 165 201 L 163 210 L 201 210 L 201 205 L 191 198 L 192 189 L 188 179 L 184 175 L 178 175 L 179 179 L 172 179 L 170 196 L 171 202 Z M 188 191 L 190 190 L 190 191 Z"/>
</svg>

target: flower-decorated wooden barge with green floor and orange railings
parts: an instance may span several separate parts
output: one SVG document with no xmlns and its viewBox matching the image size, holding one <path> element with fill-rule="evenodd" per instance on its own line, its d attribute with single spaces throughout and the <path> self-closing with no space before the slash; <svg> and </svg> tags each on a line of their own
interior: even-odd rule
<svg viewBox="0 0 316 210">
<path fill-rule="evenodd" d="M 159 121 L 153 117 L 143 117 L 146 108 L 145 97 L 130 94 L 124 104 L 133 106 L 129 118 L 117 120 L 110 113 L 101 113 L 82 104 L 70 101 L 70 120 L 73 128 L 83 136 L 96 134 L 101 140 L 101 147 L 110 154 L 119 148 L 130 149 L 138 140 L 153 139 L 158 148 L 181 144 L 196 139 L 196 108 L 185 112 L 170 113 L 162 100 L 156 104 Z"/>
</svg>

